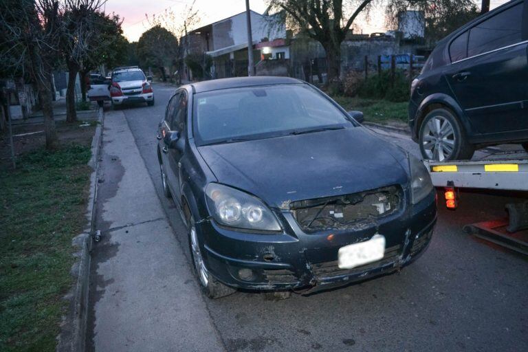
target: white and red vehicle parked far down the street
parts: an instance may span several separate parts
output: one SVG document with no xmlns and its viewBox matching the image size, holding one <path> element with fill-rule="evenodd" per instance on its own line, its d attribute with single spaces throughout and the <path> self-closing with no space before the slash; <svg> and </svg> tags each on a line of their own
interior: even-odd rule
<svg viewBox="0 0 528 352">
<path fill-rule="evenodd" d="M 152 84 L 137 66 L 113 70 L 110 96 L 114 107 L 133 102 L 146 102 L 150 107 L 154 105 Z"/>
</svg>

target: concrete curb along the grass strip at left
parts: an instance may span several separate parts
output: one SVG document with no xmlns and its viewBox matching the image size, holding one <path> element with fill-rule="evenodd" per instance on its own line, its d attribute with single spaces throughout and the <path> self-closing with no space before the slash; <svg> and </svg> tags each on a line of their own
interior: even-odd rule
<svg viewBox="0 0 528 352">
<path fill-rule="evenodd" d="M 91 263 L 92 234 L 95 232 L 95 217 L 97 204 L 98 169 L 100 151 L 102 147 L 102 130 L 104 126 L 103 109 L 98 111 L 98 121 L 94 139 L 91 141 L 91 158 L 88 165 L 92 168 L 90 176 L 89 201 L 87 207 L 88 225 L 85 232 L 74 237 L 72 245 L 76 249 L 74 256 L 78 258 L 72 265 L 74 287 L 65 296 L 69 301 L 68 313 L 63 317 L 61 333 L 57 340 L 57 352 L 83 352 L 85 351 L 87 318 L 88 318 L 88 292 Z"/>
</svg>

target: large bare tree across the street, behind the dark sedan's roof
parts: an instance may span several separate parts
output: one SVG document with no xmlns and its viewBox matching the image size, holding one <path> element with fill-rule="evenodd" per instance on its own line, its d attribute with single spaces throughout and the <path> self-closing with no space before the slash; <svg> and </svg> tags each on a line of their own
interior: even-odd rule
<svg viewBox="0 0 528 352">
<path fill-rule="evenodd" d="M 339 81 L 341 43 L 354 21 L 368 12 L 373 0 L 269 0 L 274 10 L 282 12 L 278 21 L 304 32 L 325 49 L 329 83 Z"/>
</svg>

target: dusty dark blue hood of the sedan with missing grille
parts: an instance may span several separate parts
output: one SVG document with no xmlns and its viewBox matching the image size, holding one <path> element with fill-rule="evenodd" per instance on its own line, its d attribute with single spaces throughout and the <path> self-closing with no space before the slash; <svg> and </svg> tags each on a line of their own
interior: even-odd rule
<svg viewBox="0 0 528 352">
<path fill-rule="evenodd" d="M 408 182 L 404 151 L 364 127 L 199 146 L 221 184 L 287 208 L 290 201 Z"/>
</svg>

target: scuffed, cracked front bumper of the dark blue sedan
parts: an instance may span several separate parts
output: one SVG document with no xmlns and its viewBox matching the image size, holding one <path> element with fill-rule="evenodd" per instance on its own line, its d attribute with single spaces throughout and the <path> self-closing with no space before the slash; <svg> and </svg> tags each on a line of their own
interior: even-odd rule
<svg viewBox="0 0 528 352">
<path fill-rule="evenodd" d="M 291 212 L 281 213 L 287 224 L 281 234 L 254 234 L 227 230 L 212 219 L 197 223 L 205 239 L 204 260 L 210 274 L 225 285 L 241 289 L 326 289 L 400 270 L 428 247 L 437 220 L 435 192 L 375 223 L 349 230 L 307 234 Z M 386 237 L 384 258 L 343 270 L 338 250 L 344 245 Z"/>
</svg>

